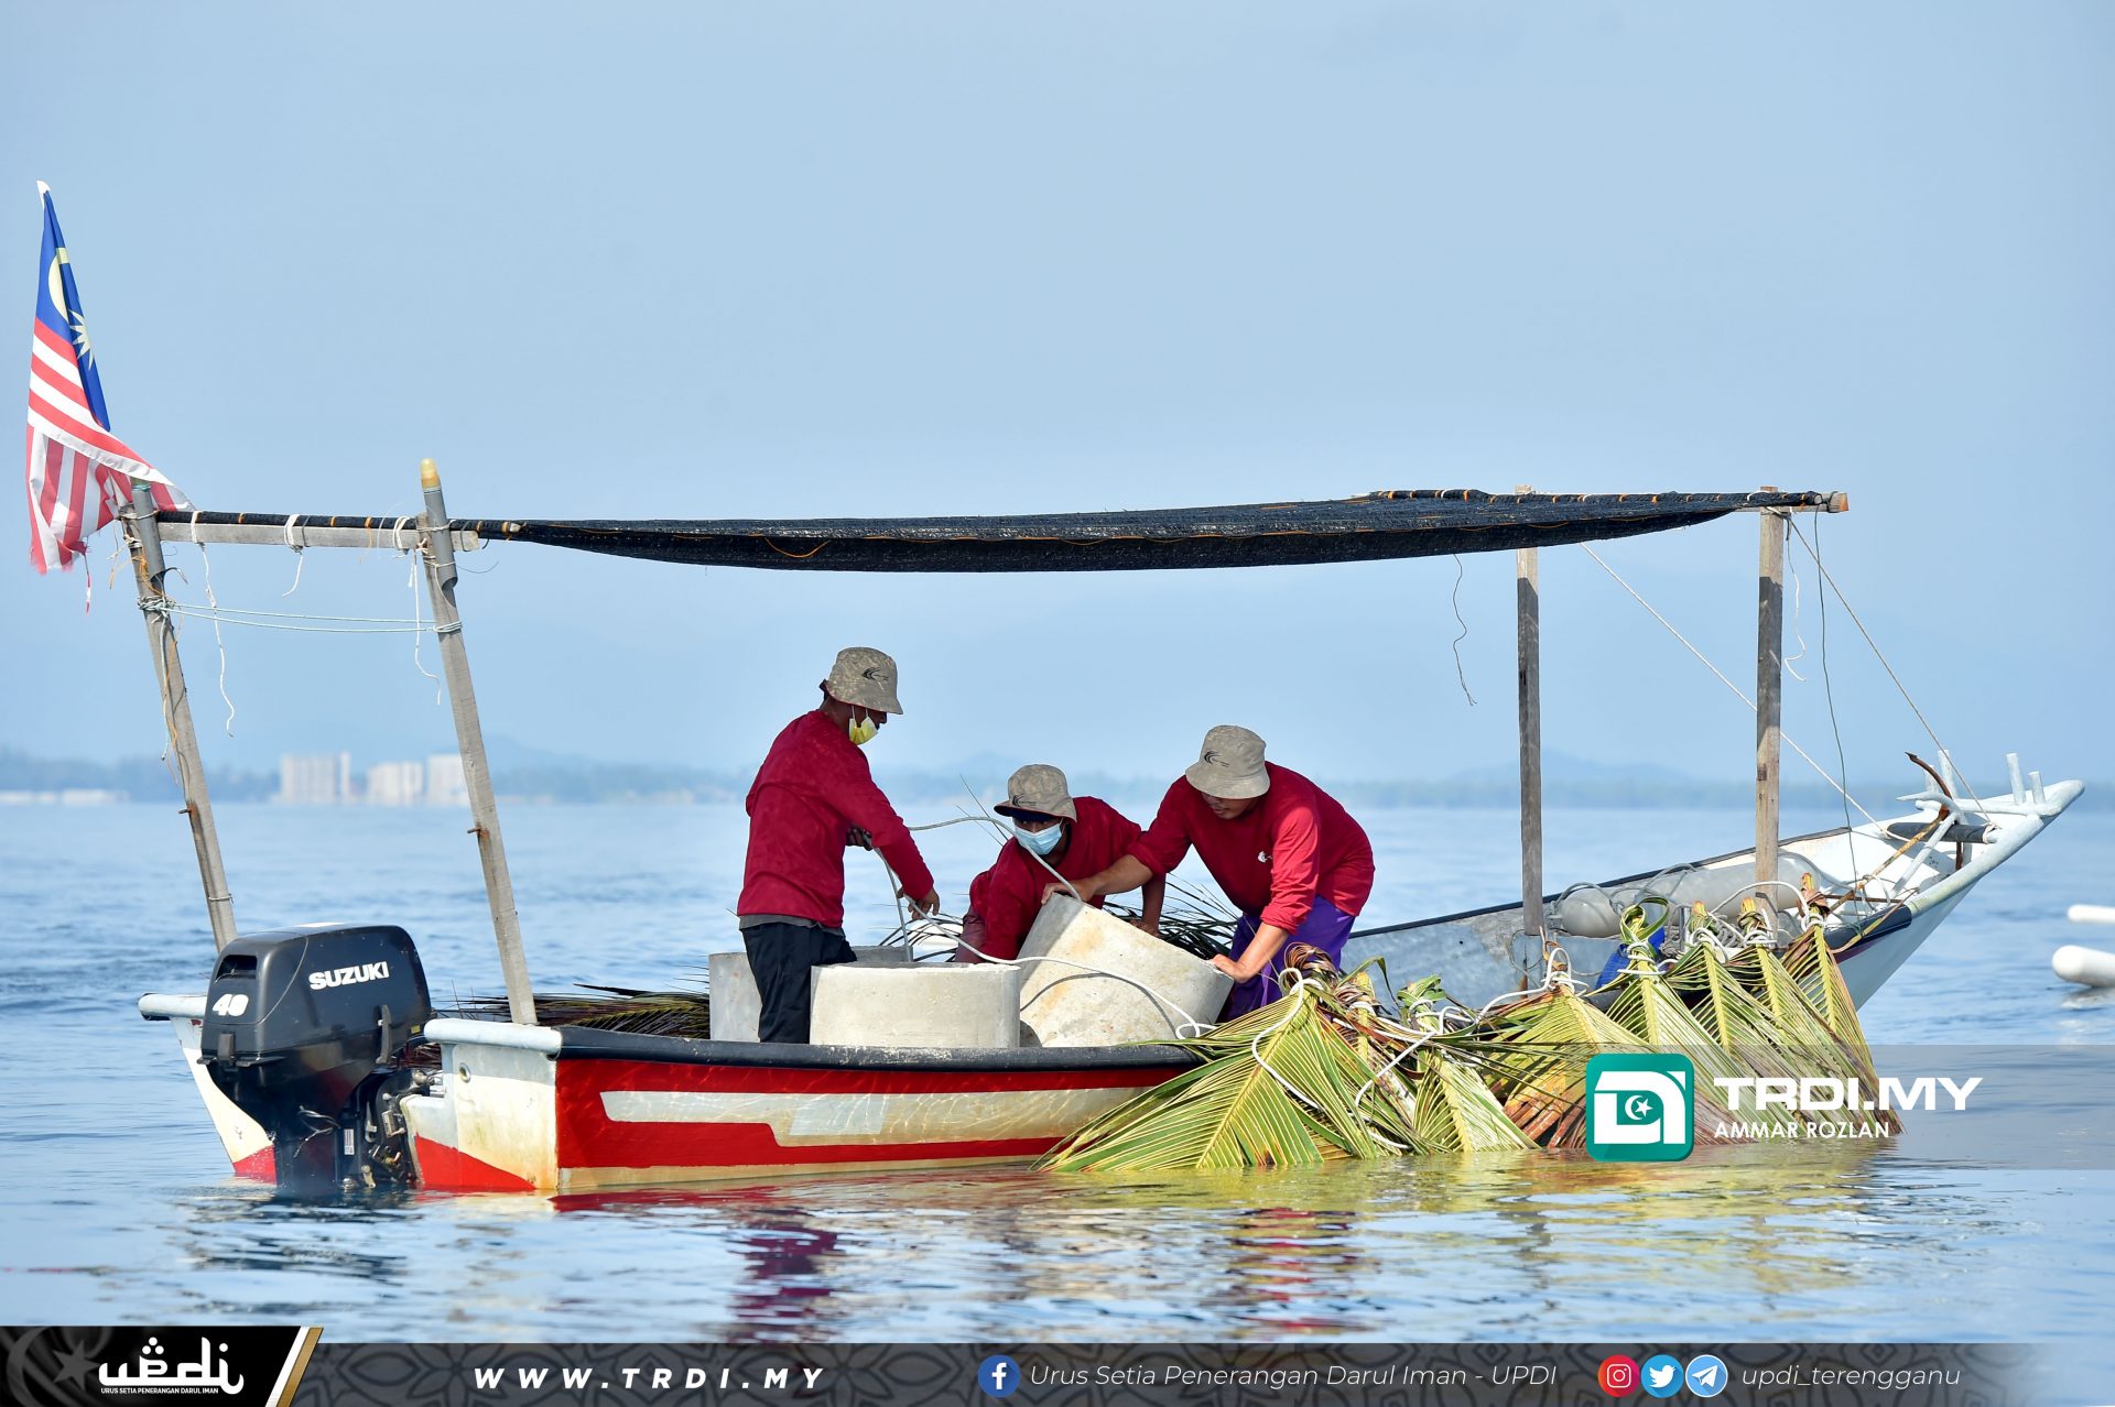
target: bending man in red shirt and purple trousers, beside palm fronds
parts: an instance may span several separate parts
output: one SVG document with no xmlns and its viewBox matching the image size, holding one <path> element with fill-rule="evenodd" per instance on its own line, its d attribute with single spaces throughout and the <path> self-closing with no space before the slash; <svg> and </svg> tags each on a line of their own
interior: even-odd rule
<svg viewBox="0 0 2115 1407">
<path fill-rule="evenodd" d="M 1233 957 L 1212 965 L 1235 980 L 1227 1018 L 1277 999 L 1294 942 L 1343 959 L 1351 919 L 1373 894 L 1373 845 L 1335 796 L 1301 773 L 1263 761 L 1263 739 L 1220 725 L 1197 763 L 1167 788 L 1153 826 L 1100 875 L 1074 881 L 1081 898 L 1121 894 L 1197 858 L 1242 911 Z M 1051 885 L 1055 889 L 1055 885 Z"/>
</svg>

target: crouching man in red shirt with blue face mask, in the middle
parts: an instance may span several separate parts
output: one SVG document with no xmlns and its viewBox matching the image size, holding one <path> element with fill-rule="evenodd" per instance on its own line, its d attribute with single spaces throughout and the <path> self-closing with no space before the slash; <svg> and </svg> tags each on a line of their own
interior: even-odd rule
<svg viewBox="0 0 2115 1407">
<path fill-rule="evenodd" d="M 1140 834 L 1138 822 L 1106 801 L 1072 796 L 1064 773 L 1045 763 L 1030 763 L 1007 777 L 1007 799 L 992 809 L 1013 820 L 1013 839 L 1005 841 L 992 868 L 969 885 L 956 961 L 1019 957 L 1045 885 L 1104 870 Z M 1138 927 L 1148 934 L 1159 932 L 1165 887 L 1159 875 L 1146 881 Z M 1102 906 L 1100 896 L 1087 902 Z"/>
</svg>

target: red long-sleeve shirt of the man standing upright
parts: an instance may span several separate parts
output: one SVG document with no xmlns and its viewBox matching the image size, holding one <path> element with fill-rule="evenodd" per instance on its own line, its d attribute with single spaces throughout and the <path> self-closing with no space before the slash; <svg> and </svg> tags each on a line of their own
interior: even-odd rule
<svg viewBox="0 0 2115 1407">
<path fill-rule="evenodd" d="M 933 870 L 873 784 L 867 754 L 823 710 L 778 733 L 742 805 L 749 860 L 736 915 L 783 913 L 844 927 L 844 847 L 854 826 L 873 837 L 905 894 L 933 894 Z"/>
</svg>

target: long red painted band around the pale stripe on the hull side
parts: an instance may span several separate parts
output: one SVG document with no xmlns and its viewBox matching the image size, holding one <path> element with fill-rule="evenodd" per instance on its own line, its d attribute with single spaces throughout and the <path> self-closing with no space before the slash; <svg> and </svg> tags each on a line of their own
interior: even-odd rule
<svg viewBox="0 0 2115 1407">
<path fill-rule="evenodd" d="M 1182 1071 L 912 1071 L 660 1065 L 651 1061 L 558 1061 L 560 1168 L 749 1168 L 950 1158 L 1036 1158 L 1058 1139 L 962 1139 L 920 1143 L 778 1143 L 770 1124 L 618 1122 L 609 1092 L 700 1094 L 969 1094 L 988 1090 L 1142 1090 Z"/>
</svg>

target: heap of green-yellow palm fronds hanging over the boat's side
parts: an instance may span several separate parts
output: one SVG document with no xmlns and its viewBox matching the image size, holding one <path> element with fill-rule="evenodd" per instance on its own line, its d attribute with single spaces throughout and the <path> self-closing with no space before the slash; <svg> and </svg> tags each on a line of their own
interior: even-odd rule
<svg viewBox="0 0 2115 1407">
<path fill-rule="evenodd" d="M 1296 946 L 1286 995 L 1195 1039 L 1203 1063 L 1102 1115 L 1045 1166 L 1151 1172 L 1252 1168 L 1335 1158 L 1580 1147 L 1586 1063 L 1595 1054 L 1686 1054 L 1698 1143 L 1722 1122 L 1834 1124 L 1849 1111 L 1728 1113 L 1717 1080 L 1857 1077 L 1872 1056 L 1821 927 L 1783 953 L 1766 934 L 1696 915 L 1688 944 L 1660 959 L 1648 936 L 1665 904 L 1624 915 L 1629 961 L 1593 999 L 1561 951 L 1542 991 L 1474 1012 L 1438 978 L 1400 993 L 1400 1014 L 1373 999 L 1368 970 L 1337 972 Z M 1887 1124 L 1884 1115 L 1857 1118 Z"/>
</svg>

